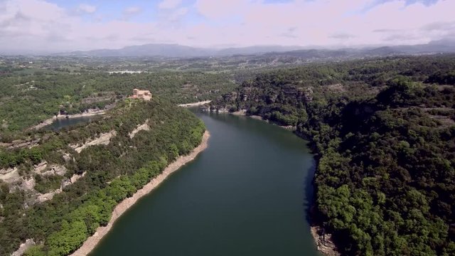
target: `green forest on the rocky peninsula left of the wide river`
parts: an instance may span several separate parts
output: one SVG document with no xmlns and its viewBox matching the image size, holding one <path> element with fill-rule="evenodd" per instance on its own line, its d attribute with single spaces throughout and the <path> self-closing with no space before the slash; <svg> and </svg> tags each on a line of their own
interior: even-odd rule
<svg viewBox="0 0 455 256">
<path fill-rule="evenodd" d="M 140 124 L 149 129 L 133 136 Z M 20 174 L 13 183 L 0 180 L 0 255 L 10 255 L 28 238 L 37 245 L 26 255 L 73 252 L 98 226 L 107 224 L 117 203 L 200 144 L 204 131 L 193 113 L 159 97 L 150 102 L 127 99 L 97 122 L 34 133 L 41 138 L 38 146 L 0 148 L 0 169 L 16 167 Z M 73 146 L 102 134 L 114 136 L 107 144 L 88 146 L 79 153 Z M 43 164 L 48 174 L 38 171 Z M 49 166 L 65 171 L 53 173 Z M 78 179 L 73 183 L 74 177 Z M 23 185 L 30 181 L 35 185 Z M 40 200 L 43 193 L 60 186 L 52 199 Z"/>
</svg>

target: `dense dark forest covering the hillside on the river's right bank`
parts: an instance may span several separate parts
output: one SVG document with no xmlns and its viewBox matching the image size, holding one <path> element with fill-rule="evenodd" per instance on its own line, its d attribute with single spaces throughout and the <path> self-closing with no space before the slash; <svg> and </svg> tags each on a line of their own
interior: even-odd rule
<svg viewBox="0 0 455 256">
<path fill-rule="evenodd" d="M 455 255 L 454 71 L 454 55 L 273 70 L 210 108 L 309 139 L 313 221 L 343 255 Z"/>
</svg>

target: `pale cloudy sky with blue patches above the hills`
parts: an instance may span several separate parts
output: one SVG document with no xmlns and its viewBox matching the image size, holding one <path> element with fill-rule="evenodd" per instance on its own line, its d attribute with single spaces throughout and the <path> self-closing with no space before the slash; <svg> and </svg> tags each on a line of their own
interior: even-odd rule
<svg viewBox="0 0 455 256">
<path fill-rule="evenodd" d="M 0 53 L 412 45 L 454 39 L 454 10 L 455 0 L 0 0 Z"/>
</svg>

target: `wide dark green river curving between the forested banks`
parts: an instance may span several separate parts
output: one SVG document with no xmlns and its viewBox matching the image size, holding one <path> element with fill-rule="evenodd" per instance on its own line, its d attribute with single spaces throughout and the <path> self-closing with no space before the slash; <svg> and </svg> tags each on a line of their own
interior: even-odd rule
<svg viewBox="0 0 455 256">
<path fill-rule="evenodd" d="M 124 213 L 91 255 L 319 255 L 305 142 L 255 119 L 198 115 L 208 149 Z"/>
</svg>

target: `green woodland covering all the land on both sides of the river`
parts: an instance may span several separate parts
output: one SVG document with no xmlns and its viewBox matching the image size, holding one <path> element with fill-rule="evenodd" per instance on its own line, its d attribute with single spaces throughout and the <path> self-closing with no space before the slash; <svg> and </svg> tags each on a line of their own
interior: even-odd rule
<svg viewBox="0 0 455 256">
<path fill-rule="evenodd" d="M 292 58 L 279 61 L 301 63 Z M 213 110 L 246 110 L 310 140 L 318 162 L 313 219 L 343 254 L 455 255 L 455 56 L 269 69 L 275 60 L 1 59 L 0 169 L 17 168 L 35 184 L 0 180 L 0 255 L 27 238 L 38 245 L 26 255 L 73 252 L 117 203 L 200 143 L 203 123 L 176 103 L 217 97 Z M 245 63 L 260 70 L 242 70 Z M 125 69 L 147 73 L 107 73 Z M 134 87 L 154 99 L 125 100 Z M 87 125 L 27 130 L 59 112 L 114 105 Z M 151 129 L 130 138 L 144 122 Z M 80 153 L 70 146 L 112 131 L 107 145 Z M 36 145 L 14 146 L 16 139 Z M 38 174 L 44 161 L 65 174 Z"/>
</svg>

